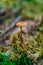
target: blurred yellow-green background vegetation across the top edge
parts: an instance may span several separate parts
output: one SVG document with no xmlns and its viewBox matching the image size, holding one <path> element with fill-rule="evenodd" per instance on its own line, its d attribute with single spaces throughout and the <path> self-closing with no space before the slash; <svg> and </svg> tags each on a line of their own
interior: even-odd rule
<svg viewBox="0 0 43 65">
<path fill-rule="evenodd" d="M 8 7 L 13 8 L 23 8 L 23 16 L 37 17 L 43 14 L 43 0 L 0 0 L 0 9 Z"/>
</svg>

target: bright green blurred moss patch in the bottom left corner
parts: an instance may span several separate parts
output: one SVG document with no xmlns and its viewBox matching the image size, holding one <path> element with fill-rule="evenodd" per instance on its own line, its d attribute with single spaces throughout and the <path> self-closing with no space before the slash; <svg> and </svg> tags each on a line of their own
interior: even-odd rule
<svg viewBox="0 0 43 65">
<path fill-rule="evenodd" d="M 0 54 L 0 65 L 15 65 L 7 56 Z"/>
</svg>

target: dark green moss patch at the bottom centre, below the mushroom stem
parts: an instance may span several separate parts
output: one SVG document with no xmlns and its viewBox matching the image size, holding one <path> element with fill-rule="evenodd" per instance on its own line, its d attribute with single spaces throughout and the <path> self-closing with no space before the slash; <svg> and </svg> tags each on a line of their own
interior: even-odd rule
<svg viewBox="0 0 43 65">
<path fill-rule="evenodd" d="M 15 63 L 16 65 L 33 65 L 31 59 L 24 53 L 15 61 Z"/>
</svg>

